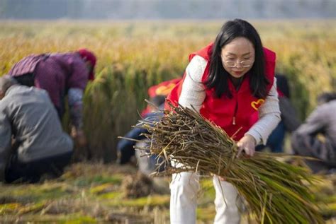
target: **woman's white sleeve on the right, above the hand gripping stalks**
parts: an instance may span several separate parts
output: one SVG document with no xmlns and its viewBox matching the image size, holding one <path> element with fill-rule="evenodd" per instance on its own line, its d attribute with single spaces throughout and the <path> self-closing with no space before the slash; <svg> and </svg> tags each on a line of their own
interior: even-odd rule
<svg viewBox="0 0 336 224">
<path fill-rule="evenodd" d="M 280 114 L 276 78 L 274 78 L 274 84 L 269 90 L 269 95 L 267 95 L 262 106 L 259 107 L 259 120 L 246 134 L 253 136 L 257 143 L 262 142 L 266 145 L 267 138 L 281 121 Z"/>
</svg>

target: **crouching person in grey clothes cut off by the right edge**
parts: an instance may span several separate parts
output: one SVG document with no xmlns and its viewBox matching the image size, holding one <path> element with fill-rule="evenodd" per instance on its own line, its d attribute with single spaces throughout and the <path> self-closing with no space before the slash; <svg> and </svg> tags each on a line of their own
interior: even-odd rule
<svg viewBox="0 0 336 224">
<path fill-rule="evenodd" d="M 318 158 L 305 160 L 312 172 L 335 172 L 336 93 L 320 95 L 318 104 L 306 121 L 293 132 L 291 146 L 297 155 Z"/>
</svg>

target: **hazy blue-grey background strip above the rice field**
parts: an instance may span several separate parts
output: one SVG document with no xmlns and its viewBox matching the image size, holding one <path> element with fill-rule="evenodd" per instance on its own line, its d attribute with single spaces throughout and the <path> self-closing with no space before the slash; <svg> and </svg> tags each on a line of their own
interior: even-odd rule
<svg viewBox="0 0 336 224">
<path fill-rule="evenodd" d="M 335 17 L 335 0 L 0 0 L 0 19 Z"/>
</svg>

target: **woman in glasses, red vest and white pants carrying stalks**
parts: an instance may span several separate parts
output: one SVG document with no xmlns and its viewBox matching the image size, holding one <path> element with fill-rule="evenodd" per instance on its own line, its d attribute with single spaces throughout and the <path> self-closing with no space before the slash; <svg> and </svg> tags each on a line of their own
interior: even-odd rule
<svg viewBox="0 0 336 224">
<path fill-rule="evenodd" d="M 173 104 L 194 106 L 203 117 L 222 127 L 237 141 L 241 152 L 254 155 L 258 143 L 280 121 L 274 81 L 275 53 L 262 47 L 257 30 L 245 20 L 223 25 L 215 42 L 189 56 L 184 78 L 167 97 Z M 259 119 L 253 119 L 255 113 Z M 179 164 L 176 164 L 179 166 Z M 213 177 L 214 223 L 240 223 L 237 190 Z M 196 223 L 198 175 L 181 172 L 171 183 L 171 223 Z"/>
</svg>

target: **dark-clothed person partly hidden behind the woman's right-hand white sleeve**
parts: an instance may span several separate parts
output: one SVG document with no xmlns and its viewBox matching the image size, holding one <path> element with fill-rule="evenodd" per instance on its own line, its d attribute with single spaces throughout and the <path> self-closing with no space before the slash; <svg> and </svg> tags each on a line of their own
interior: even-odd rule
<svg viewBox="0 0 336 224">
<path fill-rule="evenodd" d="M 284 152 L 284 138 L 286 131 L 292 132 L 298 128 L 301 122 L 298 119 L 296 110 L 291 104 L 289 83 L 286 76 L 282 74 L 276 74 L 276 91 L 279 95 L 279 107 L 281 111 L 281 122 L 272 131 L 271 135 L 267 139 L 266 145 L 257 146 L 257 151 L 261 151 L 266 146 L 271 149 L 272 153 Z"/>
</svg>

